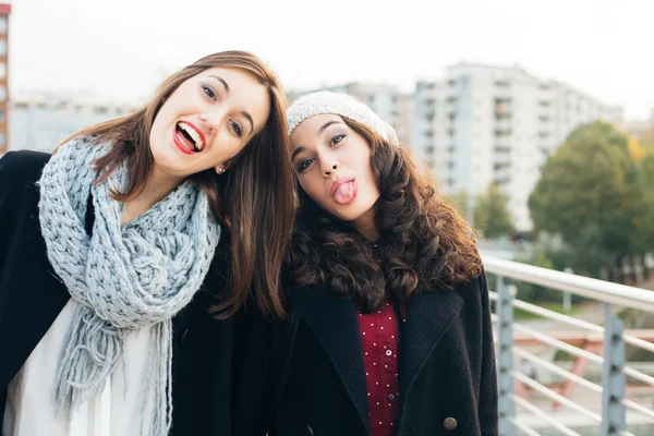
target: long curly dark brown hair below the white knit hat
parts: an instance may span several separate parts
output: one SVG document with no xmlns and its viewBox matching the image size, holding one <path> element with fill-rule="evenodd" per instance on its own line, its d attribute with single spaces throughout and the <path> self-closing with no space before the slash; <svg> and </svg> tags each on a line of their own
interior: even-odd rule
<svg viewBox="0 0 654 436">
<path fill-rule="evenodd" d="M 475 234 L 438 195 L 428 171 L 419 169 L 407 149 L 390 145 L 361 123 L 343 121 L 371 145 L 380 192 L 375 217 L 380 239 L 373 245 L 299 187 L 287 284 L 329 287 L 353 298 L 367 313 L 386 300 L 387 292 L 402 301 L 479 276 L 482 262 Z"/>
</svg>

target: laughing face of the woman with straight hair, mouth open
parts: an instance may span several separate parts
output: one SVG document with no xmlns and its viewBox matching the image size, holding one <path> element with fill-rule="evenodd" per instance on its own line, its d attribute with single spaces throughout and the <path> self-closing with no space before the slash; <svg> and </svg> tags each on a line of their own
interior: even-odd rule
<svg viewBox="0 0 654 436">
<path fill-rule="evenodd" d="M 182 83 L 161 106 L 150 130 L 155 172 L 184 179 L 229 167 L 266 125 L 266 87 L 244 70 L 210 68 Z"/>
</svg>

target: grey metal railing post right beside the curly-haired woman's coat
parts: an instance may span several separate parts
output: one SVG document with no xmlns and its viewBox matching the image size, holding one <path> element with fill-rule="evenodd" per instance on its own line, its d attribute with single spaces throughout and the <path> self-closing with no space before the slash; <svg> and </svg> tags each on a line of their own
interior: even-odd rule
<svg viewBox="0 0 654 436">
<path fill-rule="evenodd" d="M 497 384 L 499 389 L 499 434 L 514 436 L 516 427 L 510 420 L 516 417 L 512 393 L 516 380 L 513 371 L 513 295 L 516 287 L 505 284 L 504 277 L 497 276 Z"/>
</svg>

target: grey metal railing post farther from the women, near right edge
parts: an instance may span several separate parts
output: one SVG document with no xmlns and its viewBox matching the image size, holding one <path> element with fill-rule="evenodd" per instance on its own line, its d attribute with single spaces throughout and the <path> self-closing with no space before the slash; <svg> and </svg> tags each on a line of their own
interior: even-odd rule
<svg viewBox="0 0 654 436">
<path fill-rule="evenodd" d="M 627 429 L 625 399 L 627 377 L 625 366 L 625 325 L 614 316 L 613 305 L 605 304 L 604 312 L 604 365 L 602 367 L 602 436 L 618 436 Z"/>
</svg>

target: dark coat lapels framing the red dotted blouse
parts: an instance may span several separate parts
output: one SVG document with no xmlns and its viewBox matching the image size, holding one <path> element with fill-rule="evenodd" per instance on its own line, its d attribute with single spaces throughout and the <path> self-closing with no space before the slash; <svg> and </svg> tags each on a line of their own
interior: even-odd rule
<svg viewBox="0 0 654 436">
<path fill-rule="evenodd" d="M 329 355 L 370 432 L 363 351 L 354 304 L 323 288 L 291 288 L 288 295 Z M 398 362 L 401 402 L 462 306 L 463 298 L 453 290 L 419 292 L 408 302 Z"/>
</svg>

